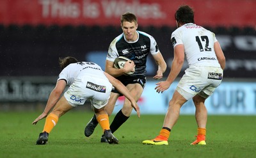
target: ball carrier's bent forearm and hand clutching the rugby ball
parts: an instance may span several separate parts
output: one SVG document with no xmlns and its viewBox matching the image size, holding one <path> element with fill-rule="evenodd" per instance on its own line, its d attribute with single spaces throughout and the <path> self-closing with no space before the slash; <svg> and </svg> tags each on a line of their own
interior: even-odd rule
<svg viewBox="0 0 256 158">
<path fill-rule="evenodd" d="M 118 77 L 120 75 L 124 75 L 127 72 L 131 72 L 134 70 L 134 61 L 127 61 L 124 65 L 124 68 L 115 68 L 114 67 L 114 62 L 109 61 L 108 59 L 106 60 L 106 65 L 105 65 L 105 72 L 108 74 L 112 75 L 113 77 Z"/>
</svg>

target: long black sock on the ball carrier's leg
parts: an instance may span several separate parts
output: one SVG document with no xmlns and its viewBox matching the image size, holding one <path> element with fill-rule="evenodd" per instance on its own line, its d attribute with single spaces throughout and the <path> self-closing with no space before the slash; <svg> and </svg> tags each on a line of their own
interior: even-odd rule
<svg viewBox="0 0 256 158">
<path fill-rule="evenodd" d="M 113 122 L 110 125 L 111 132 L 114 133 L 129 117 L 122 113 L 122 109 L 116 114 Z"/>
</svg>

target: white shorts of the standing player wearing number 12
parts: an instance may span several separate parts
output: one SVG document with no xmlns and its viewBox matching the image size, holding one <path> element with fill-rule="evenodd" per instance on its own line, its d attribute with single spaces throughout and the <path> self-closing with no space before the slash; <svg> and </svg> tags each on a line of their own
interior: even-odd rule
<svg viewBox="0 0 256 158">
<path fill-rule="evenodd" d="M 207 99 L 220 85 L 222 78 L 223 70 L 220 67 L 189 67 L 185 70 L 176 90 L 186 100 L 192 99 L 198 93 Z"/>
</svg>

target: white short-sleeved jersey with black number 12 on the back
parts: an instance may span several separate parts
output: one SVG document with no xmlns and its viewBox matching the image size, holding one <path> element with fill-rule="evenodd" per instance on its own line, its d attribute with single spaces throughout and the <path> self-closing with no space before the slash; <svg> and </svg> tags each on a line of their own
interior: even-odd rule
<svg viewBox="0 0 256 158">
<path fill-rule="evenodd" d="M 217 42 L 217 39 L 214 33 L 202 26 L 193 23 L 184 24 L 173 31 L 171 41 L 173 48 L 179 44 L 184 45 L 189 67 L 191 65 L 220 67 L 214 52 L 214 42 Z"/>
</svg>

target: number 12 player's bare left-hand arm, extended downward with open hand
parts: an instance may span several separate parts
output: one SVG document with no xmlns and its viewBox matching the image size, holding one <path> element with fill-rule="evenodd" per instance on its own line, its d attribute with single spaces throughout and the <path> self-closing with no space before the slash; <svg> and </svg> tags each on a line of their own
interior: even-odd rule
<svg viewBox="0 0 256 158">
<path fill-rule="evenodd" d="M 184 45 L 178 44 L 174 47 L 174 58 L 172 61 L 172 68 L 170 73 L 166 79 L 166 81 L 157 83 L 155 90 L 157 93 L 167 90 L 176 77 L 179 75 L 182 65 L 184 63 L 185 52 L 184 52 Z"/>
</svg>

